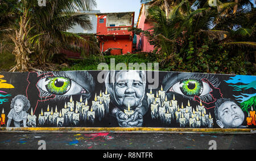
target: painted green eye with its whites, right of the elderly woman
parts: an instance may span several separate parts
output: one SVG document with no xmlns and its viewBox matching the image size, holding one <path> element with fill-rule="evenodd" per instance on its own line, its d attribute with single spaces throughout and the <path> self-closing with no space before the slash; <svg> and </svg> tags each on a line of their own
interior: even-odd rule
<svg viewBox="0 0 256 161">
<path fill-rule="evenodd" d="M 196 79 L 185 79 L 174 84 L 168 90 L 169 92 L 176 92 L 184 96 L 204 96 L 210 93 L 211 88 L 208 83 Z"/>
</svg>

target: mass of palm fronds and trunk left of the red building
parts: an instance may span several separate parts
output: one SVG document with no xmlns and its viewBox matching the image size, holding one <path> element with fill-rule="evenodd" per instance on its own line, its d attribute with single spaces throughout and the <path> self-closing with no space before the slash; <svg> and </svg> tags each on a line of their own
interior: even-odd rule
<svg viewBox="0 0 256 161">
<path fill-rule="evenodd" d="M 94 0 L 49 0 L 46 6 L 38 6 L 37 0 L 1 0 L 0 50 L 11 52 L 16 65 L 10 71 L 41 69 L 52 61 L 61 49 L 75 51 L 100 49 L 88 39 L 66 32 L 75 24 L 85 29 L 92 28 L 86 15 L 76 15 L 76 10 L 90 10 Z"/>
</svg>

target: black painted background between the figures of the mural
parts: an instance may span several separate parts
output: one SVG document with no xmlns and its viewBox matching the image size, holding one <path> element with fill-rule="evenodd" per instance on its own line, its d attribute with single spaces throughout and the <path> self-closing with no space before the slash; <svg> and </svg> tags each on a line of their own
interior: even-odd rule
<svg viewBox="0 0 256 161">
<path fill-rule="evenodd" d="M 66 71 L 67 73 L 73 73 L 74 75 L 76 75 L 77 73 L 84 73 L 85 71 Z M 50 72 L 51 73 L 51 72 Z M 64 72 L 65 73 L 65 72 Z M 85 101 L 86 98 L 88 98 L 88 105 L 89 107 L 92 106 L 92 101 L 94 100 L 94 96 L 97 94 L 99 95 L 100 91 L 105 92 L 106 87 L 105 87 L 105 83 L 98 83 L 97 82 L 97 75 L 98 73 L 100 73 L 100 71 L 88 71 L 88 73 L 90 75 L 92 75 L 93 80 L 94 80 L 94 88 L 90 88 L 88 92 L 90 92 L 90 96 L 89 97 L 85 97 L 83 96 L 83 101 Z M 161 86 L 163 85 L 164 78 L 166 77 L 167 74 L 170 74 L 171 72 L 162 72 L 159 71 L 159 87 L 157 89 L 152 89 L 152 93 L 156 94 L 156 91 L 159 91 Z M 177 80 L 176 82 L 179 81 L 179 74 L 183 74 L 183 73 L 171 73 L 171 79 L 173 80 Z M 187 73 L 188 75 L 191 73 Z M 3 102 L 2 104 L 0 104 L 0 112 L 2 112 L 2 109 L 4 109 L 4 113 L 6 115 L 6 122 L 8 120 L 7 115 L 10 112 L 10 104 L 11 104 L 11 100 L 16 96 L 16 95 L 24 95 L 26 96 L 26 90 L 28 87 L 28 81 L 27 81 L 27 77 L 28 77 L 28 73 L 0 73 L 0 75 L 3 75 L 4 77 L 1 78 L 3 80 L 6 80 L 6 83 L 12 84 L 15 88 L 0 88 L 0 91 L 5 91 L 7 94 L 10 94 L 9 97 L 7 97 L 8 101 Z M 192 74 L 193 75 L 193 74 Z M 254 99 L 253 105 L 251 105 L 251 107 L 253 107 L 253 110 L 255 111 L 255 86 L 252 86 L 250 88 L 241 88 L 241 90 L 235 90 L 235 87 L 233 86 L 234 83 L 227 83 L 226 81 L 228 81 L 230 78 L 235 77 L 236 75 L 221 75 L 221 74 L 197 74 L 197 75 L 202 75 L 201 78 L 206 78 L 208 77 L 214 77 L 218 79 L 219 82 L 219 86 L 218 88 L 220 88 L 221 90 L 221 94 L 223 98 L 229 98 L 229 99 L 233 99 L 236 101 L 236 103 L 238 104 L 237 101 L 237 97 L 236 96 L 240 96 L 241 94 L 250 94 L 250 95 L 254 95 L 253 97 L 251 97 L 252 99 Z M 243 76 L 241 76 L 242 78 Z M 251 78 L 255 81 L 255 76 L 251 76 Z M 38 79 L 38 78 L 35 78 Z M 74 78 L 75 80 L 73 81 L 77 81 L 77 78 Z M 174 81 L 175 82 L 175 81 Z M 245 85 L 245 83 L 241 82 L 237 82 L 236 85 L 240 84 Z M 35 85 L 35 84 L 34 84 Z M 167 87 L 164 87 L 164 90 L 168 90 L 166 89 Z M 148 89 L 148 83 L 146 84 L 146 92 L 144 95 L 144 101 L 143 104 L 147 104 L 147 95 L 146 93 L 150 93 L 150 89 Z M 31 102 L 37 101 L 38 100 L 38 91 L 35 91 L 34 95 L 30 95 L 29 100 Z M 181 108 L 181 103 L 183 103 L 184 108 L 186 107 L 186 105 L 188 104 L 188 100 L 189 103 L 191 104 L 192 108 L 196 109 L 197 105 L 200 105 L 199 102 L 194 101 L 193 99 L 188 99 L 185 98 L 184 96 L 177 94 L 176 92 L 170 92 L 167 94 L 167 99 L 171 100 L 173 98 L 173 95 L 175 94 L 175 100 L 177 100 L 177 103 L 179 104 L 179 107 Z M 6 94 L 4 94 L 6 95 Z M 72 99 L 76 102 L 79 101 L 81 98 L 81 95 L 72 95 Z M 61 99 L 49 99 L 47 101 L 40 101 L 38 103 L 38 107 L 33 107 L 32 103 L 31 104 L 31 108 L 34 111 L 34 115 L 37 117 L 36 118 L 36 127 L 39 127 L 38 125 L 38 116 L 40 115 L 41 111 L 43 110 L 43 112 L 47 111 L 47 107 L 49 105 L 50 110 L 51 108 L 53 108 L 53 111 L 55 111 L 55 108 L 57 106 L 57 111 L 59 112 L 62 108 L 64 108 L 65 103 L 67 103 L 70 100 L 70 96 L 67 97 L 63 97 Z M 76 104 L 75 104 L 76 105 Z M 113 104 L 110 103 L 110 108 Z M 240 105 L 240 104 L 238 104 Z M 76 106 L 75 106 L 76 107 Z M 148 107 L 148 105 L 147 105 Z M 246 117 L 248 117 L 248 112 L 251 110 L 251 107 L 249 109 L 244 110 L 243 113 L 245 114 L 245 119 L 243 121 L 242 125 L 247 125 L 246 122 Z M 30 111 L 31 108 L 28 110 L 28 115 L 30 115 Z M 214 108 L 210 108 L 210 109 L 206 109 L 207 114 L 211 114 L 211 116 L 214 118 Z M 216 119 L 213 119 L 213 128 L 219 128 L 219 126 L 216 124 Z M 6 126 L 2 125 L 2 126 Z M 13 124 L 11 124 L 10 126 L 14 126 Z M 43 125 L 43 126 L 55 126 L 56 125 Z M 94 120 L 94 122 L 90 122 L 90 121 L 80 121 L 80 123 L 78 125 L 69 125 L 69 126 L 80 126 L 80 127 L 118 127 L 118 122 L 116 120 L 115 117 L 113 117 L 112 115 L 109 114 L 105 114 L 104 118 L 102 118 L 101 120 L 98 120 L 97 117 Z M 151 110 L 150 107 L 148 107 L 148 110 L 146 112 L 146 114 L 143 116 L 143 127 L 170 127 L 170 128 L 179 128 L 180 125 L 177 124 L 176 121 L 172 121 L 171 124 L 164 124 L 163 121 L 161 121 L 160 119 L 152 119 L 151 117 Z M 248 126 L 247 126 L 248 127 Z M 255 128 L 255 126 L 249 126 L 249 128 Z"/>
</svg>

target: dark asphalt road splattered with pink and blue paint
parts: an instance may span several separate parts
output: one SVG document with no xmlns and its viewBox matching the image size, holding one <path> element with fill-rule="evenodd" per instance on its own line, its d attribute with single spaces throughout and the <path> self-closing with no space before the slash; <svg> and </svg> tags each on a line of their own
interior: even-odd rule
<svg viewBox="0 0 256 161">
<path fill-rule="evenodd" d="M 0 133 L 3 150 L 254 150 L 256 134 Z"/>
</svg>

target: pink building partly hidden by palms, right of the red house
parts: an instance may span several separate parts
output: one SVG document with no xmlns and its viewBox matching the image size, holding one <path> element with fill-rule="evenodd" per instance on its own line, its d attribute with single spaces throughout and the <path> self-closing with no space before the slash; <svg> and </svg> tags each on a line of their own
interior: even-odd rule
<svg viewBox="0 0 256 161">
<path fill-rule="evenodd" d="M 152 31 L 150 29 L 154 26 L 154 24 L 148 21 L 148 6 L 149 4 L 147 3 L 141 5 L 141 11 L 139 12 L 137 28 Z M 152 52 L 154 50 L 154 46 L 150 45 L 146 36 L 137 35 L 136 50 L 141 50 L 142 52 Z"/>
</svg>

